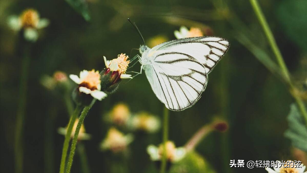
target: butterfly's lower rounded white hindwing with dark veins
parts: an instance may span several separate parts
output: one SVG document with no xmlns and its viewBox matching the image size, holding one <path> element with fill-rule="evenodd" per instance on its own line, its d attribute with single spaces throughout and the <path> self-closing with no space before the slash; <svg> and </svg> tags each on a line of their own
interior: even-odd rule
<svg viewBox="0 0 307 173">
<path fill-rule="evenodd" d="M 207 85 L 204 65 L 185 53 L 159 50 L 153 56 L 144 70 L 157 98 L 174 111 L 195 104 Z"/>
</svg>

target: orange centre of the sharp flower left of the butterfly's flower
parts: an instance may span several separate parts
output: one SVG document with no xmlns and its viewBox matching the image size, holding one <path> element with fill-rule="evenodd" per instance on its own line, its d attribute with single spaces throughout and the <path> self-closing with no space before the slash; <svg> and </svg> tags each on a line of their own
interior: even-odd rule
<svg viewBox="0 0 307 173">
<path fill-rule="evenodd" d="M 79 86 L 86 87 L 90 90 L 95 90 L 100 84 L 100 74 L 98 71 L 95 72 L 93 69 L 92 71 L 89 71 L 87 76 L 81 80 L 82 81 Z"/>
</svg>

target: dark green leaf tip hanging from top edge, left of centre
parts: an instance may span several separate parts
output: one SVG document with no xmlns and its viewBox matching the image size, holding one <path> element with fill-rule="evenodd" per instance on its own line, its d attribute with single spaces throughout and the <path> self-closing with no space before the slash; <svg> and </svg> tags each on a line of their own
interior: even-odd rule
<svg viewBox="0 0 307 173">
<path fill-rule="evenodd" d="M 86 21 L 90 21 L 91 16 L 85 0 L 65 0 L 72 8 L 79 13 Z"/>
</svg>

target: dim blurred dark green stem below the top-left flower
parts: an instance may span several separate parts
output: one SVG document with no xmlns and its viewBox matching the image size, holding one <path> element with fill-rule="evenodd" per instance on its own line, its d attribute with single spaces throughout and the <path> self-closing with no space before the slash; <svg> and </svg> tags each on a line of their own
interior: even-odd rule
<svg viewBox="0 0 307 173">
<path fill-rule="evenodd" d="M 25 106 L 26 97 L 28 90 L 28 73 L 30 64 L 30 48 L 28 46 L 24 47 L 23 59 L 21 64 L 21 75 L 19 84 L 19 99 L 18 99 L 18 109 L 16 115 L 16 126 L 15 126 L 15 171 L 22 172 L 23 167 L 23 129 L 25 120 Z"/>
</svg>

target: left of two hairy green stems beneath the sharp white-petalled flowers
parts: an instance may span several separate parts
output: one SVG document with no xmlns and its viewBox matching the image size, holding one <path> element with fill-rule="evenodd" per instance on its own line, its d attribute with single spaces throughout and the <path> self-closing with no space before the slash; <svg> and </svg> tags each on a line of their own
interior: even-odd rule
<svg viewBox="0 0 307 173">
<path fill-rule="evenodd" d="M 62 158 L 61 158 L 61 164 L 60 164 L 60 173 L 63 173 L 64 170 L 65 170 L 65 161 L 66 161 L 70 136 L 72 134 L 72 128 L 73 128 L 75 120 L 76 120 L 77 116 L 79 115 L 81 109 L 82 109 L 82 106 L 77 105 L 75 111 L 73 112 L 73 114 L 72 114 L 72 116 L 70 117 L 70 120 L 69 120 L 67 132 L 66 132 L 65 140 L 64 140 L 64 144 L 63 144 Z"/>
</svg>

